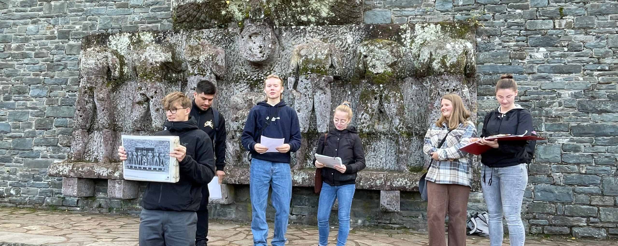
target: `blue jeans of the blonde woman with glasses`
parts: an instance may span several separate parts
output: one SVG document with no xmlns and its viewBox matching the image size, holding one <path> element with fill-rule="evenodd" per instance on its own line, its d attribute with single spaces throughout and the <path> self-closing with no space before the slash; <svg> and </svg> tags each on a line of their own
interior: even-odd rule
<svg viewBox="0 0 618 246">
<path fill-rule="evenodd" d="M 318 202 L 318 232 L 320 233 L 320 246 L 328 244 L 329 224 L 332 205 L 335 199 L 339 200 L 337 217 L 339 218 L 339 234 L 337 235 L 337 246 L 344 246 L 347 236 L 350 233 L 350 208 L 352 208 L 352 198 L 356 191 L 355 184 L 344 186 L 331 186 L 323 182 L 320 192 L 320 202 Z"/>
</svg>

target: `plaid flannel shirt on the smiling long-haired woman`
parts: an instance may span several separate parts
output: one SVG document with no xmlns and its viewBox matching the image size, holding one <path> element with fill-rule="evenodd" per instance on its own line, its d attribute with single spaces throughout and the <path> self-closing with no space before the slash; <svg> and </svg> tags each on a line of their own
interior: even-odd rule
<svg viewBox="0 0 618 246">
<path fill-rule="evenodd" d="M 470 138 L 476 137 L 476 127 L 470 121 L 467 126 L 460 123 L 449 133 L 442 147 L 437 149 L 448 132 L 449 129 L 445 123 L 442 127 L 433 125 L 425 134 L 423 152 L 425 154 L 438 152 L 438 161 L 434 161 L 430 166 L 426 179 L 436 184 L 472 186 L 472 155 L 459 148 L 470 143 Z"/>
</svg>

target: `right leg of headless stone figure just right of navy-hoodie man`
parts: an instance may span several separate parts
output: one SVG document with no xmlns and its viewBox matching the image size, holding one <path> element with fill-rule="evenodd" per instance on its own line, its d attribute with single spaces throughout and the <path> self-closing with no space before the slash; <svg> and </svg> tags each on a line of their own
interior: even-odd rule
<svg viewBox="0 0 618 246">
<path fill-rule="evenodd" d="M 313 109 L 318 125 L 318 133 L 328 132 L 331 119 L 331 83 L 332 76 L 318 76 L 314 81 Z"/>
</svg>

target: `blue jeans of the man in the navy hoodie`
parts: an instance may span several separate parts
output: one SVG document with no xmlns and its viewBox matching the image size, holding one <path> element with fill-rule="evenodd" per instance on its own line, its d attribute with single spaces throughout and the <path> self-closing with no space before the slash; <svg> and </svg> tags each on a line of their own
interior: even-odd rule
<svg viewBox="0 0 618 246">
<path fill-rule="evenodd" d="M 253 158 L 250 167 L 249 193 L 251 196 L 251 231 L 253 245 L 266 246 L 268 224 L 266 205 L 268 189 L 273 187 L 271 202 L 276 211 L 274 218 L 273 246 L 286 245 L 287 221 L 292 199 L 292 173 L 289 163 L 268 162 Z"/>
</svg>

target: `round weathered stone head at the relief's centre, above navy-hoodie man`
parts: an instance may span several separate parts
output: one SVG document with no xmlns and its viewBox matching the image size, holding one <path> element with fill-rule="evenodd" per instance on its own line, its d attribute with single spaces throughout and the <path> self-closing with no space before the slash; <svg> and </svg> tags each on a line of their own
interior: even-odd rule
<svg viewBox="0 0 618 246">
<path fill-rule="evenodd" d="M 273 28 L 266 23 L 245 21 L 245 28 L 239 38 L 240 55 L 249 62 L 260 64 L 277 51 L 277 36 Z"/>
</svg>

